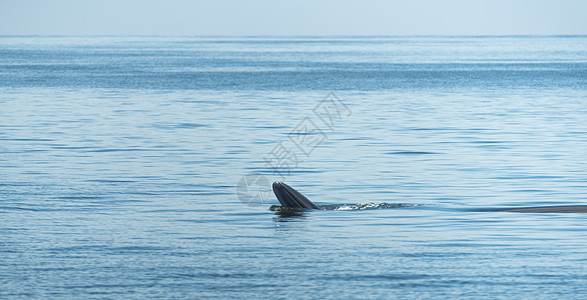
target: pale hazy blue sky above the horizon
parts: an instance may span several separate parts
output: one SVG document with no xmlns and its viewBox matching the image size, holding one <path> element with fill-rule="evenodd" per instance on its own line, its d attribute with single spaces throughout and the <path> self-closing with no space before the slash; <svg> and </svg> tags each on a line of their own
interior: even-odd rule
<svg viewBox="0 0 587 300">
<path fill-rule="evenodd" d="M 0 0 L 0 34 L 587 34 L 587 1 Z"/>
</svg>

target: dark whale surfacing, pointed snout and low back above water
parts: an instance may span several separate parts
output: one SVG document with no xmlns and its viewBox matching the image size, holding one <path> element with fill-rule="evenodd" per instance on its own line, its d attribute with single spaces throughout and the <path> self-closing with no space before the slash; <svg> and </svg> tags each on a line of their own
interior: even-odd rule
<svg viewBox="0 0 587 300">
<path fill-rule="evenodd" d="M 283 207 L 291 209 L 321 209 L 320 206 L 312 203 L 306 196 L 291 186 L 276 181 L 273 183 L 273 193 Z M 537 207 L 514 207 L 514 208 L 488 208 L 473 211 L 498 211 L 498 212 L 519 212 L 519 213 L 587 213 L 587 205 L 561 205 L 561 206 L 537 206 Z"/>
</svg>

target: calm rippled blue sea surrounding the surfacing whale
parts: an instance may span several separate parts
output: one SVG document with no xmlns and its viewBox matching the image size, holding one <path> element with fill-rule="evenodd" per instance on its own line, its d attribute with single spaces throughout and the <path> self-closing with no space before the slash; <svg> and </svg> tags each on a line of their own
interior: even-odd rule
<svg viewBox="0 0 587 300">
<path fill-rule="evenodd" d="M 0 37 L 0 298 L 581 298 L 587 215 L 473 211 L 586 116 L 585 36 Z"/>
</svg>

